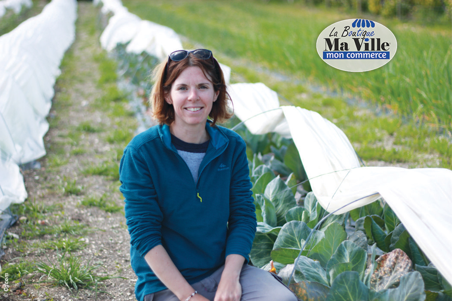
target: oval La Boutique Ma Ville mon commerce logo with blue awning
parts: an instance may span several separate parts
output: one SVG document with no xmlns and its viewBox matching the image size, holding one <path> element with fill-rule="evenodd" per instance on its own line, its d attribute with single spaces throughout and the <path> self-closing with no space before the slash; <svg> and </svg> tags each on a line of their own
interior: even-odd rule
<svg viewBox="0 0 452 301">
<path fill-rule="evenodd" d="M 389 62 L 397 40 L 385 26 L 370 20 L 350 19 L 325 28 L 317 39 L 317 53 L 331 67 L 362 72 Z"/>
</svg>

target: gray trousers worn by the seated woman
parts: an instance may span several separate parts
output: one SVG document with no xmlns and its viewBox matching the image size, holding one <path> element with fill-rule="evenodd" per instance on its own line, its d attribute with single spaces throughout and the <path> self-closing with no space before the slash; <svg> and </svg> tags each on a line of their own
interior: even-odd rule
<svg viewBox="0 0 452 301">
<path fill-rule="evenodd" d="M 212 275 L 192 284 L 202 296 L 213 301 L 224 266 Z M 240 273 L 241 301 L 297 301 L 295 294 L 274 274 L 244 264 Z M 187 296 L 188 297 L 188 296 Z M 144 301 L 179 301 L 169 289 L 145 295 Z"/>
</svg>

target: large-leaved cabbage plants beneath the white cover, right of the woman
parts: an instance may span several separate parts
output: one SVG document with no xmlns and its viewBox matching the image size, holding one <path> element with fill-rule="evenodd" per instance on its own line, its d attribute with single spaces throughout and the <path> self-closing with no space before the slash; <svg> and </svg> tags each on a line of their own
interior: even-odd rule
<svg viewBox="0 0 452 301">
<path fill-rule="evenodd" d="M 278 273 L 303 300 L 450 299 L 450 284 L 384 199 L 328 214 L 312 191 L 298 188 L 309 185 L 290 139 L 242 136 L 250 148 L 271 150 L 250 160 L 255 266 Z"/>
</svg>

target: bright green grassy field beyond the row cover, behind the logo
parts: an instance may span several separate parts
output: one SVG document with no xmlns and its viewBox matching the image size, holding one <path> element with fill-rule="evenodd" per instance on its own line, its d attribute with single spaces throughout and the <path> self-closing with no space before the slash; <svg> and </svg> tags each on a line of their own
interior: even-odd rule
<svg viewBox="0 0 452 301">
<path fill-rule="evenodd" d="M 194 47 L 212 49 L 221 62 L 231 66 L 234 81 L 264 82 L 281 99 L 330 119 L 363 157 L 384 157 L 413 166 L 452 167 L 450 27 L 424 28 L 282 2 L 134 0 L 125 5 L 142 19 L 171 27 L 197 43 Z M 398 41 L 395 58 L 368 72 L 341 71 L 324 63 L 315 51 L 318 35 L 328 25 L 352 17 L 371 18 L 388 27 Z M 272 78 L 273 71 L 284 78 Z M 321 92 L 310 91 L 315 89 Z M 338 93 L 331 93 L 334 91 Z M 358 100 L 348 100 L 349 96 Z M 370 112 L 365 117 L 359 116 L 362 106 Z M 370 135 L 366 140 L 377 139 L 364 147 L 362 127 L 380 129 L 383 134 L 375 137 L 364 131 Z M 428 137 L 444 136 L 444 144 L 442 140 L 425 144 L 421 138 L 425 132 Z M 383 156 L 375 156 L 388 136 L 401 143 L 393 149 L 416 145 L 413 154 L 405 153 L 409 157 L 404 158 L 400 152 L 388 150 Z M 431 155 L 437 160 L 426 159 Z"/>
</svg>

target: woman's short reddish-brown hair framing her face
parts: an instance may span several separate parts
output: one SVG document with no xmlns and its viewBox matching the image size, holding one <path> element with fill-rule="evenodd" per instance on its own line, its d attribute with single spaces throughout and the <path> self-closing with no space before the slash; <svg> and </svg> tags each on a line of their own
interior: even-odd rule
<svg viewBox="0 0 452 301">
<path fill-rule="evenodd" d="M 204 76 L 212 82 L 214 91 L 219 91 L 218 97 L 212 104 L 212 110 L 209 113 L 209 117 L 212 119 L 210 126 L 214 126 L 216 122 L 222 123 L 233 116 L 233 113 L 228 110 L 228 101 L 232 102 L 232 100 L 226 90 L 223 71 L 221 71 L 218 62 L 213 56 L 205 60 L 196 58 L 190 53 L 187 58 L 181 61 L 169 60 L 166 78 L 163 78 L 167 63 L 162 62 L 154 69 L 152 76 L 154 86 L 149 97 L 152 115 L 160 124 L 170 125 L 174 122 L 174 108 L 165 101 L 165 95 L 170 92 L 171 85 L 179 77 L 180 73 L 191 66 L 199 67 Z"/>
</svg>

